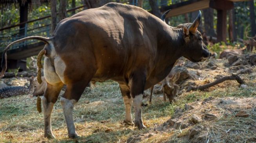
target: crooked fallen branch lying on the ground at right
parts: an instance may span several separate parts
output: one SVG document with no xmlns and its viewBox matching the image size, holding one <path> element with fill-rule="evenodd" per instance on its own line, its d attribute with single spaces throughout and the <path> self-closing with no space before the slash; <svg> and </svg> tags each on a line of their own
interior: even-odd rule
<svg viewBox="0 0 256 143">
<path fill-rule="evenodd" d="M 220 79 L 217 79 L 215 80 L 214 82 L 211 82 L 209 84 L 205 84 L 205 85 L 202 85 L 202 86 L 189 86 L 189 88 L 187 89 L 186 92 L 189 92 L 189 91 L 196 91 L 196 90 L 204 90 L 204 89 L 207 89 L 207 88 L 210 88 L 212 86 L 215 86 L 216 84 L 220 84 L 226 80 L 236 80 L 239 84 L 243 84 L 244 81 L 236 74 L 232 74 L 231 76 L 225 76 L 225 77 L 222 77 Z"/>
</svg>

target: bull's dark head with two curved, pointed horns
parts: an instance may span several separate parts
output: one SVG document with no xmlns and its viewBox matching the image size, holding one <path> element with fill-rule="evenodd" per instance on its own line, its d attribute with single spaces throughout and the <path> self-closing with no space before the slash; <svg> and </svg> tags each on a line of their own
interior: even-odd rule
<svg viewBox="0 0 256 143">
<path fill-rule="evenodd" d="M 163 14 L 161 18 L 163 21 L 165 21 L 165 16 L 169 11 Z M 205 61 L 211 57 L 211 53 L 203 43 L 202 34 L 197 29 L 200 19 L 201 11 L 199 11 L 198 16 L 193 23 L 180 24 L 176 27 L 182 29 L 182 38 L 185 41 L 185 50 L 183 51 L 182 56 L 192 62 Z"/>
</svg>

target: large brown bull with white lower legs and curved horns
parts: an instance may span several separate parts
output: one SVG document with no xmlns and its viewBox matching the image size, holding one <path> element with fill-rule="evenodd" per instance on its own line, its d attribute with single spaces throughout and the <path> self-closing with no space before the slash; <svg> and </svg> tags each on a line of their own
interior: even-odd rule
<svg viewBox="0 0 256 143">
<path fill-rule="evenodd" d="M 145 89 L 162 81 L 175 61 L 184 56 L 193 62 L 209 59 L 210 52 L 197 30 L 201 13 L 189 27 L 170 27 L 163 20 L 140 7 L 108 3 L 88 9 L 60 21 L 51 38 L 33 36 L 46 43 L 44 76 L 47 89 L 42 97 L 44 136 L 54 137 L 51 112 L 64 84 L 61 97 L 69 138 L 77 137 L 73 107 L 87 84 L 112 79 L 120 85 L 125 104 L 125 122 L 142 129 L 141 104 Z M 13 44 L 11 43 L 11 44 Z M 10 45 L 11 45 L 10 44 Z M 2 73 L 6 70 L 6 51 Z"/>
</svg>

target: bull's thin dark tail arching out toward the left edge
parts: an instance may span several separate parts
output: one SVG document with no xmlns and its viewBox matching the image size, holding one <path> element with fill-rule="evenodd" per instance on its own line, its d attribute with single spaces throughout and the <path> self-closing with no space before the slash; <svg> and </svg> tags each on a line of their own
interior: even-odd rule
<svg viewBox="0 0 256 143">
<path fill-rule="evenodd" d="M 19 42 L 22 42 L 22 41 L 26 41 L 26 40 L 30 40 L 30 39 L 36 39 L 36 40 L 40 40 L 40 41 L 43 41 L 44 43 L 46 44 L 49 44 L 49 40 L 51 38 L 45 38 L 45 37 L 41 37 L 41 36 L 31 36 L 31 37 L 26 37 L 26 38 L 22 38 L 22 39 L 19 39 L 19 40 L 16 40 L 12 43 L 10 43 L 4 50 L 4 53 L 2 55 L 2 62 L 1 62 L 1 68 L 2 68 L 2 71 L 0 73 L 0 78 L 4 77 L 4 73 L 7 69 L 7 50 L 11 47 L 11 45 L 15 44 L 15 43 L 19 43 Z M 42 57 L 41 57 L 42 58 Z"/>
</svg>

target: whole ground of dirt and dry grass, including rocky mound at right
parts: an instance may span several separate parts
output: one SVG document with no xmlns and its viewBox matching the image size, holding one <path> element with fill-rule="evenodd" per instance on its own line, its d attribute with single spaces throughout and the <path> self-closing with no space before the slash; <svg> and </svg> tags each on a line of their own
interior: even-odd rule
<svg viewBox="0 0 256 143">
<path fill-rule="evenodd" d="M 234 55 L 231 55 L 234 56 Z M 68 139 L 59 100 L 52 114 L 56 139 L 44 138 L 44 118 L 36 111 L 36 97 L 28 95 L 0 100 L 0 142 L 2 143 L 254 143 L 256 142 L 256 68 L 253 54 L 236 55 L 191 63 L 181 59 L 181 87 L 176 102 L 163 102 L 154 89 L 143 98 L 142 117 L 146 129 L 123 124 L 124 105 L 118 84 L 111 80 L 86 88 L 74 108 L 75 126 L 80 138 Z M 240 63 L 239 63 L 240 62 Z M 186 92 L 189 86 L 210 83 L 237 73 L 245 84 L 222 82 L 205 91 Z M 8 86 L 28 85 L 24 77 L 0 79 Z M 64 93 L 61 92 L 60 96 Z M 134 114 L 133 114 L 134 117 Z"/>
</svg>

